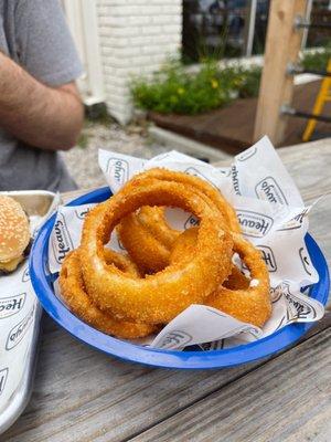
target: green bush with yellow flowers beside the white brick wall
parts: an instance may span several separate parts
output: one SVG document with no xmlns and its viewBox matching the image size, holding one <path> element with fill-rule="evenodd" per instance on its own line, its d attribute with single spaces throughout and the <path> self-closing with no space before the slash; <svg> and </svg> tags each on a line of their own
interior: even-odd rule
<svg viewBox="0 0 331 442">
<path fill-rule="evenodd" d="M 178 61 L 170 61 L 151 80 L 134 80 L 131 92 L 137 107 L 161 114 L 194 115 L 222 107 L 239 96 L 257 93 L 258 69 L 220 69 L 204 61 L 197 73 L 190 73 Z"/>
</svg>

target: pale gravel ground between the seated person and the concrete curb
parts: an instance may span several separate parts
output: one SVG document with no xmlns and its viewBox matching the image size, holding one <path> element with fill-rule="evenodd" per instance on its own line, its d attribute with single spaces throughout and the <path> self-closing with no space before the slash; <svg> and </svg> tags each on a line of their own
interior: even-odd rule
<svg viewBox="0 0 331 442">
<path fill-rule="evenodd" d="M 79 188 L 105 185 L 97 160 L 99 148 L 141 158 L 151 158 L 168 150 L 164 146 L 151 144 L 146 130 L 139 126 L 124 129 L 115 123 L 107 126 L 87 123 L 79 146 L 63 154 L 66 166 Z"/>
</svg>

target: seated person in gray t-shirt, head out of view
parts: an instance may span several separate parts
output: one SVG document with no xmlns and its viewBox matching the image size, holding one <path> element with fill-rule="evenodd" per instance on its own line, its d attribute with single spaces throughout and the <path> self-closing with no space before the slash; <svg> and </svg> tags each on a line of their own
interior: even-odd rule
<svg viewBox="0 0 331 442">
<path fill-rule="evenodd" d="M 76 188 L 57 150 L 82 128 L 81 74 L 60 0 L 0 0 L 0 191 Z"/>
</svg>

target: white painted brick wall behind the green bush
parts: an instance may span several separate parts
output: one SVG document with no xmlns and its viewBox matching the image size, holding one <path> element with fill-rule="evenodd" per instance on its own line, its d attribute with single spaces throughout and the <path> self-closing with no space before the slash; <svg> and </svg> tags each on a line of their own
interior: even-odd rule
<svg viewBox="0 0 331 442">
<path fill-rule="evenodd" d="M 131 118 L 129 81 L 179 53 L 182 0 L 97 0 L 106 104 L 121 124 Z"/>
</svg>

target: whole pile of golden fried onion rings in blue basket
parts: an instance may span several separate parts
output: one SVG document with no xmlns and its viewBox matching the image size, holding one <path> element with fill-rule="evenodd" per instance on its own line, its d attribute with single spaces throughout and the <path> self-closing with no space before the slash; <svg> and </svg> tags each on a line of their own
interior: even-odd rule
<svg viewBox="0 0 331 442">
<path fill-rule="evenodd" d="M 174 230 L 168 207 L 193 214 L 199 227 Z M 127 255 L 105 249 L 115 229 Z M 257 326 L 271 312 L 266 265 L 243 238 L 232 206 L 200 178 L 164 169 L 135 176 L 87 214 L 60 288 L 77 316 L 121 338 L 154 333 L 191 304 Z"/>
</svg>

